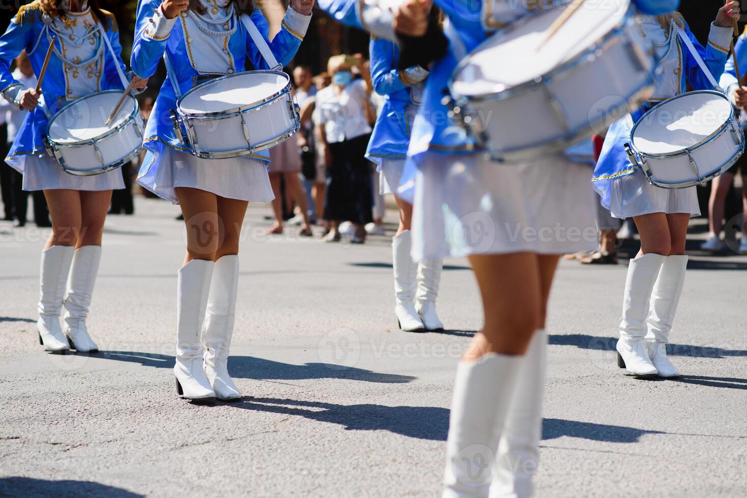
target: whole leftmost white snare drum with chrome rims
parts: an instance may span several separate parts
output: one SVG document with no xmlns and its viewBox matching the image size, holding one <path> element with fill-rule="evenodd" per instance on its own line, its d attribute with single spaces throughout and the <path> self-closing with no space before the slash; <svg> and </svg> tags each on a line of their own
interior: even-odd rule
<svg viewBox="0 0 747 498">
<path fill-rule="evenodd" d="M 117 115 L 106 124 L 122 97 L 120 90 L 96 92 L 67 104 L 49 120 L 46 150 L 63 170 L 77 176 L 119 168 L 143 148 L 143 118 L 137 99 L 127 95 Z"/>
</svg>

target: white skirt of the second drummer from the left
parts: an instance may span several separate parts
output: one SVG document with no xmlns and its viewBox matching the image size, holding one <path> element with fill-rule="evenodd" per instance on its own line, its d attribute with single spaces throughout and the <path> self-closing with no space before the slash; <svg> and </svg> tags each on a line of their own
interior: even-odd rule
<svg viewBox="0 0 747 498">
<path fill-rule="evenodd" d="M 200 159 L 164 146 L 150 168 L 158 168 L 152 184 L 141 178 L 137 183 L 173 204 L 179 204 L 174 192 L 176 187 L 204 190 L 241 201 L 270 202 L 275 198 L 267 165 L 261 160 L 248 157 Z M 142 169 L 140 176 L 143 176 Z"/>
</svg>

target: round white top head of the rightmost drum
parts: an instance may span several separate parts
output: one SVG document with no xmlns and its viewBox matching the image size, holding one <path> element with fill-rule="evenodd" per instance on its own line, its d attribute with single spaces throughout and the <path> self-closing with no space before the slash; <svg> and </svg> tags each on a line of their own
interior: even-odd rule
<svg viewBox="0 0 747 498">
<path fill-rule="evenodd" d="M 713 136 L 728 122 L 731 104 L 714 92 L 689 92 L 659 104 L 636 124 L 633 147 L 643 154 L 673 154 Z"/>
</svg>

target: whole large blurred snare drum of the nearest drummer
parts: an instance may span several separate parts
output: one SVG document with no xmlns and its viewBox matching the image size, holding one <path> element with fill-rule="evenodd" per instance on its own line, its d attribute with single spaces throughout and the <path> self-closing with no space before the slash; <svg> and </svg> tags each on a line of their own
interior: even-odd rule
<svg viewBox="0 0 747 498">
<path fill-rule="evenodd" d="M 446 101 L 455 122 L 496 160 L 527 160 L 639 107 L 653 91 L 656 63 L 629 6 L 586 2 L 544 45 L 568 5 L 498 31 L 453 72 Z"/>
</svg>

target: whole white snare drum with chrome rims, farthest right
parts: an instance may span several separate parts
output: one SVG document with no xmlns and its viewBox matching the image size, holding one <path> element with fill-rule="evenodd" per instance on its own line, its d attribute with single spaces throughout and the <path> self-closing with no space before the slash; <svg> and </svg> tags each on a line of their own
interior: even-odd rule
<svg viewBox="0 0 747 498">
<path fill-rule="evenodd" d="M 630 162 L 664 189 L 713 180 L 737 163 L 745 149 L 742 125 L 722 92 L 675 95 L 648 110 L 625 144 Z"/>
</svg>

